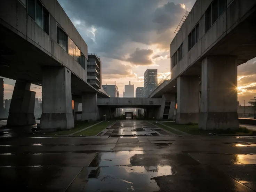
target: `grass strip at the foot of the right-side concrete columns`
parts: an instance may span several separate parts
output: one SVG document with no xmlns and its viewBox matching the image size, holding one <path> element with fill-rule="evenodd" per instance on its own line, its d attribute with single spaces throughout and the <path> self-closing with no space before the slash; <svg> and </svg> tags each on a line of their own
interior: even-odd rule
<svg viewBox="0 0 256 192">
<path fill-rule="evenodd" d="M 243 126 L 240 126 L 240 128 L 238 130 L 234 130 L 234 129 L 203 130 L 203 129 L 199 129 L 198 125 L 195 123 L 189 123 L 187 125 L 178 125 L 175 122 L 167 122 L 167 123 L 163 123 L 163 124 L 165 124 L 169 127 L 181 130 L 185 133 L 192 134 L 192 135 L 209 135 L 209 134 L 213 134 L 213 135 L 214 134 L 239 134 L 239 135 L 251 134 L 251 135 L 255 135 L 256 134 L 256 131 L 249 130 Z M 165 126 L 163 126 L 162 128 L 167 129 L 167 127 L 165 127 Z M 169 130 L 169 129 L 167 129 L 167 130 Z"/>
</svg>

